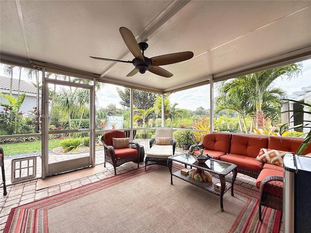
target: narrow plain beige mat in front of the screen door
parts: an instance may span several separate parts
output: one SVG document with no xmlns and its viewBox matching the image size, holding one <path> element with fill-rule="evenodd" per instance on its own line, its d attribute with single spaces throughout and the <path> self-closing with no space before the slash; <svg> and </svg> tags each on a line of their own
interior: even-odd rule
<svg viewBox="0 0 311 233">
<path fill-rule="evenodd" d="M 47 177 L 44 180 L 38 179 L 36 190 L 47 188 L 47 187 L 52 187 L 54 185 L 66 183 L 69 181 L 78 180 L 78 179 L 81 179 L 87 176 L 91 176 L 94 174 L 104 172 L 106 170 L 107 169 L 104 167 L 104 165 L 98 165 L 94 167 L 82 168 L 79 170 L 74 170 L 74 171 L 70 171 L 67 173 Z"/>
</svg>

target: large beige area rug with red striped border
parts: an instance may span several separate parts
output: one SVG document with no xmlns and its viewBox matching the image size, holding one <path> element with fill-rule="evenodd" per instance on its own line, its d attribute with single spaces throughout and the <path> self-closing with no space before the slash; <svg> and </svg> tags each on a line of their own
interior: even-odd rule
<svg viewBox="0 0 311 233">
<path fill-rule="evenodd" d="M 148 166 L 72 189 L 11 210 L 4 233 L 271 233 L 280 212 L 263 207 L 258 192 L 235 185 L 220 199 Z"/>
</svg>

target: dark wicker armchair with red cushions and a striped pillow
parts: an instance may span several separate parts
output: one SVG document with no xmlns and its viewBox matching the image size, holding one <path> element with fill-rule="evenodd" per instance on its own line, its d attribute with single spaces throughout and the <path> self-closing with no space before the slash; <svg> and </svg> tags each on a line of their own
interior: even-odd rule
<svg viewBox="0 0 311 233">
<path fill-rule="evenodd" d="M 117 175 L 116 167 L 121 164 L 137 161 L 139 167 L 140 146 L 138 143 L 130 142 L 124 132 L 108 131 L 102 136 L 102 142 L 105 155 L 104 166 L 106 162 L 110 163 L 114 167 L 115 175 Z M 136 148 L 131 148 L 131 145 L 135 145 Z"/>
</svg>

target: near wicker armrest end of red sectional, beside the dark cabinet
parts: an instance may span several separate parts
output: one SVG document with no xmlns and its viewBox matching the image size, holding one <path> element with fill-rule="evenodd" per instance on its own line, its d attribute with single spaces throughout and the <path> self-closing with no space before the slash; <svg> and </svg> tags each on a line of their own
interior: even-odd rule
<svg viewBox="0 0 311 233">
<path fill-rule="evenodd" d="M 283 210 L 283 177 L 267 176 L 259 188 L 259 220 L 261 221 L 261 205 Z"/>
</svg>

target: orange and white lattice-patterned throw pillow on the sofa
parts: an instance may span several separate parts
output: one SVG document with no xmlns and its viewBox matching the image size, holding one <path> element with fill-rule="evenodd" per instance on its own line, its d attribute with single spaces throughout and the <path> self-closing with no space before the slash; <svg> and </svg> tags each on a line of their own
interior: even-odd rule
<svg viewBox="0 0 311 233">
<path fill-rule="evenodd" d="M 268 163 L 268 164 L 283 166 L 283 157 L 287 153 L 292 153 L 292 152 L 262 148 L 259 151 L 259 154 L 257 155 L 256 160 L 264 162 L 264 163 Z"/>
</svg>

